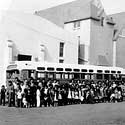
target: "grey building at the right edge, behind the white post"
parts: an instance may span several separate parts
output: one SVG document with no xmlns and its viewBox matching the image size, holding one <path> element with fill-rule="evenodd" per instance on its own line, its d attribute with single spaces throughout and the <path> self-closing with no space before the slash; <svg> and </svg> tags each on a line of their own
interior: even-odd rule
<svg viewBox="0 0 125 125">
<path fill-rule="evenodd" d="M 116 66 L 125 68 L 125 12 L 110 15 L 116 22 L 114 26 L 116 42 Z"/>
</svg>

